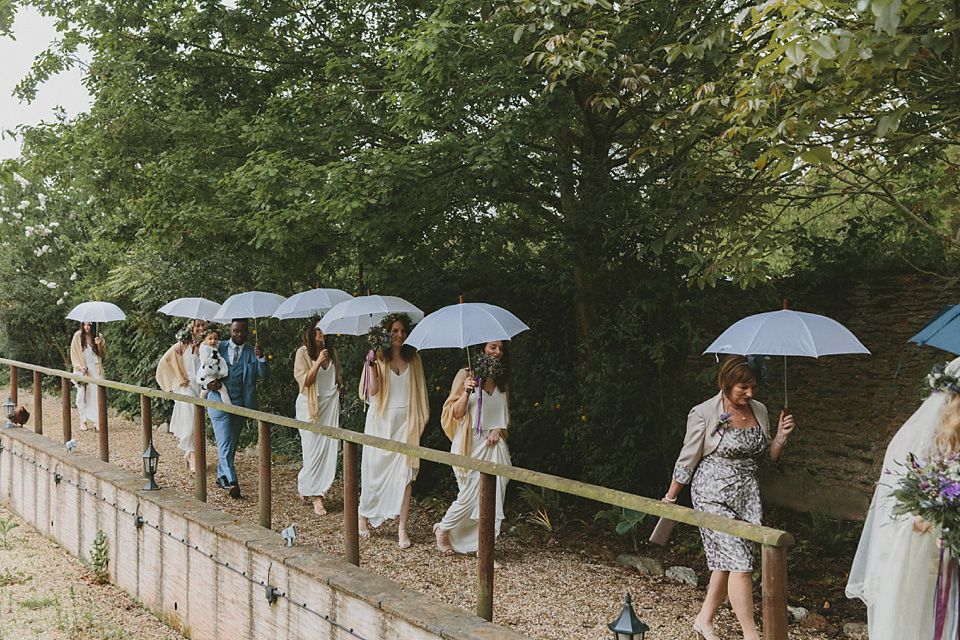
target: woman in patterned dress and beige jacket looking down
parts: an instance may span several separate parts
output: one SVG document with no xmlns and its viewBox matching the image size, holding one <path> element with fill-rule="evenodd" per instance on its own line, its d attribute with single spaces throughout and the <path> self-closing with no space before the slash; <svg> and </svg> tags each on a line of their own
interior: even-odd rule
<svg viewBox="0 0 960 640">
<path fill-rule="evenodd" d="M 731 355 L 720 365 L 720 393 L 690 410 L 687 435 L 674 467 L 665 502 L 676 502 L 683 485 L 691 483 L 695 509 L 760 524 L 763 508 L 757 467 L 769 450 L 777 460 L 790 433 L 793 416 L 780 412 L 777 435 L 770 439 L 767 408 L 753 399 L 759 362 Z M 710 569 L 710 586 L 693 622 L 698 638 L 719 640 L 713 619 L 730 597 L 744 640 L 760 640 L 753 619 L 754 543 L 711 529 L 700 528 Z"/>
</svg>

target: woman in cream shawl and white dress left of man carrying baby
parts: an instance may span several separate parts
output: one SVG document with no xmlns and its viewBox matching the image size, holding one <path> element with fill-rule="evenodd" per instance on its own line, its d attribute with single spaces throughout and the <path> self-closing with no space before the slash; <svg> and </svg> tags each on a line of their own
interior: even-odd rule
<svg viewBox="0 0 960 640">
<path fill-rule="evenodd" d="M 157 385 L 167 393 L 179 393 L 194 398 L 200 397 L 200 385 L 193 373 L 199 362 L 198 344 L 203 320 L 190 321 L 189 333 L 181 335 L 160 358 L 157 364 Z M 190 471 L 196 471 L 194 463 L 193 421 L 194 405 L 189 402 L 174 401 L 173 414 L 170 416 L 170 433 L 180 442 L 177 448 L 183 451 L 183 459 Z"/>
</svg>

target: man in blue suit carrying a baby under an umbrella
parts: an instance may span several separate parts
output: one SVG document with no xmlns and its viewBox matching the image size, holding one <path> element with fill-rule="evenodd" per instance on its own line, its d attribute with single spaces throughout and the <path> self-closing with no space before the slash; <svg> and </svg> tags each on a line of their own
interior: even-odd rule
<svg viewBox="0 0 960 640">
<path fill-rule="evenodd" d="M 270 367 L 260 344 L 252 347 L 247 344 L 248 333 L 249 322 L 237 319 L 230 324 L 230 339 L 218 343 L 217 350 L 227 362 L 228 373 L 226 378 L 207 385 L 209 400 L 219 402 L 223 386 L 232 404 L 248 409 L 260 408 L 257 404 L 257 378 L 266 379 L 270 375 Z M 240 498 L 240 484 L 237 482 L 233 459 L 246 418 L 210 407 L 207 408 L 207 415 L 213 423 L 213 435 L 217 440 L 217 486 L 228 491 L 231 498 Z"/>
</svg>

